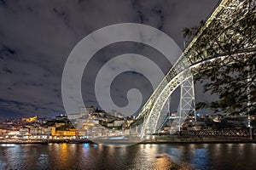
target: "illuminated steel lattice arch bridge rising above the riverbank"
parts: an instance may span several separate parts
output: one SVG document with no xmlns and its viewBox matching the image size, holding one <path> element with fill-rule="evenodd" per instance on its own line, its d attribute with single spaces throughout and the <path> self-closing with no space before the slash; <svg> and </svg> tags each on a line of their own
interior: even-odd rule
<svg viewBox="0 0 256 170">
<path fill-rule="evenodd" d="M 248 14 L 252 14 L 254 23 L 256 23 L 255 7 L 254 0 L 223 0 L 219 2 L 204 26 L 197 32 L 192 42 L 160 82 L 158 88 L 143 105 L 131 128 L 141 136 L 156 133 L 161 125 L 161 120 L 167 114 L 164 111 L 166 102 L 178 87 L 181 87 L 181 96 L 177 110 L 179 116 L 175 123 L 180 127 L 189 114 L 195 114 L 194 69 L 198 65 L 214 59 L 241 58 L 245 56 L 244 54 L 255 54 L 255 25 L 252 35 L 247 37 L 244 34 L 247 26 L 242 24 L 247 21 Z M 228 53 L 224 48 L 219 48 L 227 43 L 232 47 L 239 48 L 232 48 Z"/>
</svg>

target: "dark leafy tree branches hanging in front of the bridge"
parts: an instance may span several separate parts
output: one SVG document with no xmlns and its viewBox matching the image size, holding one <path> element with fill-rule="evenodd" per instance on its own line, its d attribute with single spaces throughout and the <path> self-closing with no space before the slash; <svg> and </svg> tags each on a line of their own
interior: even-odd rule
<svg viewBox="0 0 256 170">
<path fill-rule="evenodd" d="M 214 25 L 208 26 L 193 45 L 197 58 L 219 56 L 193 69 L 195 82 L 207 80 L 204 92 L 219 96 L 216 101 L 198 103 L 197 109 L 256 115 L 256 10 L 253 1 L 243 5 L 227 18 L 214 19 Z M 183 29 L 189 39 L 199 32 L 195 27 Z"/>
</svg>

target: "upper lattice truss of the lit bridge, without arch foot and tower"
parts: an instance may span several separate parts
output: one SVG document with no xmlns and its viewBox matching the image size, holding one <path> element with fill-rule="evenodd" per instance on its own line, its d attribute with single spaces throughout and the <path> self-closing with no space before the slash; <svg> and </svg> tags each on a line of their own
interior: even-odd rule
<svg viewBox="0 0 256 170">
<path fill-rule="evenodd" d="M 218 49 L 218 54 L 212 54 L 209 51 L 209 48 L 212 48 L 212 46 L 214 46 L 214 42 L 216 42 L 217 40 L 219 42 L 227 42 L 230 40 L 230 37 L 225 37 L 225 34 L 229 34 L 230 31 L 232 31 L 231 30 L 232 26 L 236 26 L 236 21 L 234 20 L 240 20 L 245 17 L 245 15 L 247 14 L 248 6 L 250 6 L 251 8 L 255 7 L 256 1 L 224 0 L 221 3 L 219 3 L 218 7 L 215 9 L 212 15 L 208 18 L 205 26 L 201 28 L 201 31 L 199 31 L 199 33 L 195 36 L 193 41 L 189 43 L 189 47 L 184 50 L 183 54 L 179 57 L 179 59 L 177 59 L 177 62 L 172 66 L 172 69 L 168 71 L 168 73 L 166 74 L 165 79 L 162 82 L 160 82 L 160 85 L 158 86 L 158 88 L 156 88 L 154 93 L 150 96 L 150 98 L 148 99 L 147 103 L 143 106 L 142 111 L 139 113 L 137 118 L 139 118 L 140 116 L 146 116 L 148 114 L 148 110 L 151 109 L 150 106 L 154 103 L 155 99 L 160 94 L 160 91 L 163 90 L 166 86 L 166 83 L 171 81 L 172 78 L 176 77 L 178 73 L 188 69 L 192 65 L 196 65 L 208 59 L 214 59 L 214 58 L 227 55 L 221 49 Z M 235 14 L 239 15 L 239 18 L 236 17 L 235 19 L 232 19 L 231 16 Z M 207 31 L 211 29 L 216 30 L 217 29 L 216 26 L 219 26 L 221 28 L 226 28 L 226 29 L 224 29 L 224 31 L 219 30 L 221 32 L 215 31 L 214 34 L 212 33 L 213 32 L 212 31 L 211 33 L 213 35 L 209 35 L 209 32 Z M 244 28 L 241 27 L 240 29 L 242 30 Z M 208 39 L 206 39 L 206 34 Z M 255 32 L 253 32 L 253 34 L 254 34 L 252 35 L 253 42 L 245 42 L 244 47 L 242 47 L 240 51 L 237 51 L 237 53 L 255 51 L 255 48 L 256 48 Z M 243 37 L 242 35 L 236 32 L 236 35 L 232 37 L 232 39 L 236 39 L 236 41 L 234 42 L 234 46 L 237 45 L 236 42 L 238 43 L 239 39 L 245 39 L 245 38 L 247 37 Z M 206 48 L 195 50 L 195 47 L 197 47 L 198 45 L 197 43 L 200 43 L 200 42 L 205 43 Z"/>
</svg>

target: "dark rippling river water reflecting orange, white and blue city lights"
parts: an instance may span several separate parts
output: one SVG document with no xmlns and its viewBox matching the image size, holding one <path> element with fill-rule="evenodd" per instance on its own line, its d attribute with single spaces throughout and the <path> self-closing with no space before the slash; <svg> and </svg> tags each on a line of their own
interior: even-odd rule
<svg viewBox="0 0 256 170">
<path fill-rule="evenodd" d="M 0 144 L 0 169 L 256 169 L 256 144 Z"/>
</svg>

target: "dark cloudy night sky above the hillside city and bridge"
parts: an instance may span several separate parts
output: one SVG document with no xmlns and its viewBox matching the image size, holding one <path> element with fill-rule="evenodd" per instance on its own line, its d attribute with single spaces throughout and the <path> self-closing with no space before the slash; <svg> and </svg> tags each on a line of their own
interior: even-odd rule
<svg viewBox="0 0 256 170">
<path fill-rule="evenodd" d="M 197 26 L 217 3 L 218 0 L 0 0 L 0 118 L 65 113 L 62 71 L 74 46 L 90 32 L 113 24 L 140 23 L 164 31 L 183 49 L 183 28 Z M 113 56 L 127 53 L 153 59 L 164 72 L 172 66 L 158 51 L 140 43 L 118 42 L 102 48 L 84 71 L 85 105 L 98 106 L 94 94 L 97 71 Z M 111 93 L 116 105 L 126 105 L 130 88 L 142 91 L 143 102 L 153 92 L 143 75 L 125 72 L 113 81 Z M 198 86 L 195 88 L 196 98 L 207 99 Z"/>
</svg>

